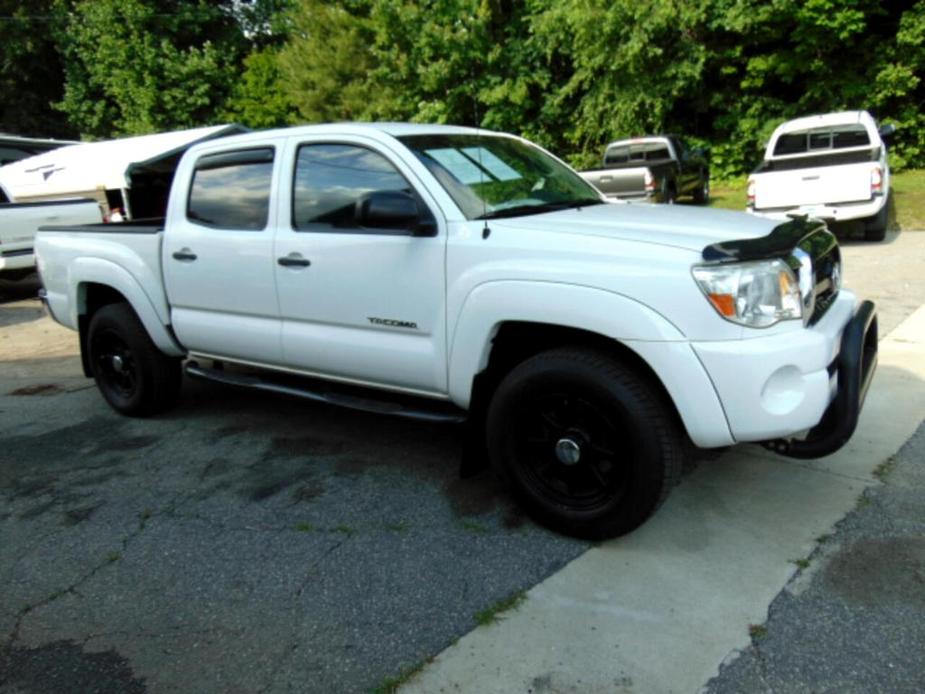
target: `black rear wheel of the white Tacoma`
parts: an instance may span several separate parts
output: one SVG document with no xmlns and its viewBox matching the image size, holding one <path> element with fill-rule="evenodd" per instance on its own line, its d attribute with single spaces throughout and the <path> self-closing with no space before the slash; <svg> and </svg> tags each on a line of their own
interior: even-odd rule
<svg viewBox="0 0 925 694">
<path fill-rule="evenodd" d="M 182 381 L 180 360 L 151 342 L 128 304 L 109 304 L 93 315 L 87 349 L 96 385 L 113 409 L 144 417 L 176 402 Z"/>
</svg>

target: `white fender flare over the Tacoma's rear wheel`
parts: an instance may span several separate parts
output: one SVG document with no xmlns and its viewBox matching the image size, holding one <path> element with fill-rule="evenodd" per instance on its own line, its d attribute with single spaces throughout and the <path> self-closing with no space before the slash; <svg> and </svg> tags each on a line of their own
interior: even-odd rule
<svg viewBox="0 0 925 694">
<path fill-rule="evenodd" d="M 171 357 L 186 356 L 186 350 L 176 341 L 162 321 L 150 297 L 141 284 L 127 270 L 101 258 L 77 258 L 68 268 L 68 306 L 72 325 L 78 325 L 78 316 L 86 312 L 87 284 L 102 284 L 125 297 L 138 315 L 151 341 L 164 354 Z"/>
</svg>

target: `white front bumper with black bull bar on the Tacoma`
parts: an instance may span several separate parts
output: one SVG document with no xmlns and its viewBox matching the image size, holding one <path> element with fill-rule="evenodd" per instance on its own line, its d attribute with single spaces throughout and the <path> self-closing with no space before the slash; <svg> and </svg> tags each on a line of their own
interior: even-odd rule
<svg viewBox="0 0 925 694">
<path fill-rule="evenodd" d="M 873 304 L 859 306 L 851 292 L 842 290 L 811 327 L 691 346 L 737 442 L 782 439 L 786 446 L 775 441 L 781 452 L 786 448 L 790 455 L 818 457 L 837 450 L 854 431 L 876 366 L 876 326 Z M 848 426 L 826 433 L 833 418 Z M 793 440 L 806 431 L 811 432 L 807 438 Z"/>
</svg>

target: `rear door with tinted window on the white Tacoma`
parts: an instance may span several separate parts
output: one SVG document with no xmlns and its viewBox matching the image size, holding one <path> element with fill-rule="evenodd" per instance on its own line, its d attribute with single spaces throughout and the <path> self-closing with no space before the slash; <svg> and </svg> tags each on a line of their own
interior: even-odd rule
<svg viewBox="0 0 925 694">
<path fill-rule="evenodd" d="M 277 160 L 273 142 L 205 153 L 174 185 L 164 281 L 174 332 L 191 352 L 281 361 L 270 204 Z"/>
</svg>

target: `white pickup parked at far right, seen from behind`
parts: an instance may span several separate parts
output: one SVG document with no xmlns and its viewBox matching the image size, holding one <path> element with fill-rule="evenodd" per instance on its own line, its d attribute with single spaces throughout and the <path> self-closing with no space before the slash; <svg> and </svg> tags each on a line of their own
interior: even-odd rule
<svg viewBox="0 0 925 694">
<path fill-rule="evenodd" d="M 890 167 L 884 138 L 866 111 L 808 116 L 778 126 L 748 178 L 747 209 L 772 219 L 805 214 L 859 220 L 868 241 L 886 237 Z"/>
</svg>

